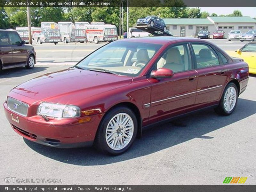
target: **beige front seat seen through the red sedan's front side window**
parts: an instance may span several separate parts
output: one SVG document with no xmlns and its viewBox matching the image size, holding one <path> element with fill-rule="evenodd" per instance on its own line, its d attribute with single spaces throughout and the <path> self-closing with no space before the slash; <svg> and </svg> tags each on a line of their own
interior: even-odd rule
<svg viewBox="0 0 256 192">
<path fill-rule="evenodd" d="M 172 69 L 173 72 L 183 71 L 184 64 L 181 59 L 180 51 L 177 48 L 171 48 L 167 51 L 164 68 Z"/>
</svg>

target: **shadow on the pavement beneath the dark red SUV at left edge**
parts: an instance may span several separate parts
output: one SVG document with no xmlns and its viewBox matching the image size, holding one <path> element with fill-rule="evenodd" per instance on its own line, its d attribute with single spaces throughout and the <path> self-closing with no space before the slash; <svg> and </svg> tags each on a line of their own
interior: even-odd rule
<svg viewBox="0 0 256 192">
<path fill-rule="evenodd" d="M 4 69 L 0 74 L 0 79 L 2 78 L 10 78 L 10 77 L 21 77 L 25 75 L 29 75 L 32 73 L 37 73 L 40 71 L 46 70 L 48 67 L 34 67 L 32 69 L 27 69 L 25 67 L 17 67 L 11 69 Z"/>
</svg>

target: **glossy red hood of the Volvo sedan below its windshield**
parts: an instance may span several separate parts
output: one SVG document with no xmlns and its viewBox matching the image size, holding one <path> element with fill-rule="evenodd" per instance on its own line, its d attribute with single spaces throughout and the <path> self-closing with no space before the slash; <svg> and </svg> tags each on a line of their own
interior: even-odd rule
<svg viewBox="0 0 256 192">
<path fill-rule="evenodd" d="M 18 85 L 11 92 L 29 97 L 33 102 L 43 100 L 63 103 L 71 97 L 72 101 L 81 100 L 80 95 L 93 97 L 131 82 L 132 77 L 129 76 L 72 68 L 38 76 Z"/>
</svg>

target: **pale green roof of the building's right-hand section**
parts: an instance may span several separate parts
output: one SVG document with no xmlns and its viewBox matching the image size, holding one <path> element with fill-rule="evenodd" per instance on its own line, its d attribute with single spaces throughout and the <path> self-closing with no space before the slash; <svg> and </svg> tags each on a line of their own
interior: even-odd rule
<svg viewBox="0 0 256 192">
<path fill-rule="evenodd" d="M 215 23 L 256 23 L 251 17 L 208 17 Z"/>
</svg>

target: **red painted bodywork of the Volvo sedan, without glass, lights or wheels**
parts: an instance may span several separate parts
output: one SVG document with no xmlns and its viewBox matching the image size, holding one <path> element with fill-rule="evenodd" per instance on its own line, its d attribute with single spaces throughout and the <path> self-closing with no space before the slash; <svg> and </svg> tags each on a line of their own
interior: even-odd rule
<svg viewBox="0 0 256 192">
<path fill-rule="evenodd" d="M 29 104 L 28 116 L 22 117 L 13 113 L 15 117 L 19 116 L 20 124 L 12 121 L 10 115 L 12 112 L 4 103 L 8 121 L 25 131 L 36 134 L 38 139 L 58 139 L 63 143 L 93 141 L 102 117 L 110 108 L 120 103 L 136 106 L 140 112 L 142 126 L 146 126 L 175 115 L 218 104 L 225 86 L 232 80 L 240 84 L 240 91 L 246 88 L 248 72 L 241 73 L 240 69 L 248 69 L 248 65 L 236 60 L 228 65 L 176 73 L 171 78 L 155 79 L 147 75 L 148 70 L 169 45 L 189 41 L 204 42 L 214 46 L 209 42 L 170 37 L 134 38 L 121 41 L 163 44 L 163 46 L 137 77 L 116 76 L 75 68 L 29 80 L 15 87 L 8 94 L 9 97 Z M 191 77 L 194 78 L 191 80 Z M 219 84 L 222 87 L 218 89 L 205 91 L 203 94 L 197 92 Z M 186 95 L 177 97 L 182 94 Z M 177 98 L 164 100 L 172 97 Z M 164 101 L 152 103 L 159 100 Z M 79 118 L 50 118 L 46 122 L 41 116 L 36 115 L 36 109 L 43 101 L 77 105 L 84 113 Z M 79 120 L 88 115 L 86 111 L 90 111 L 91 115 L 88 117 L 91 117 L 91 121 L 79 123 Z"/>
</svg>

